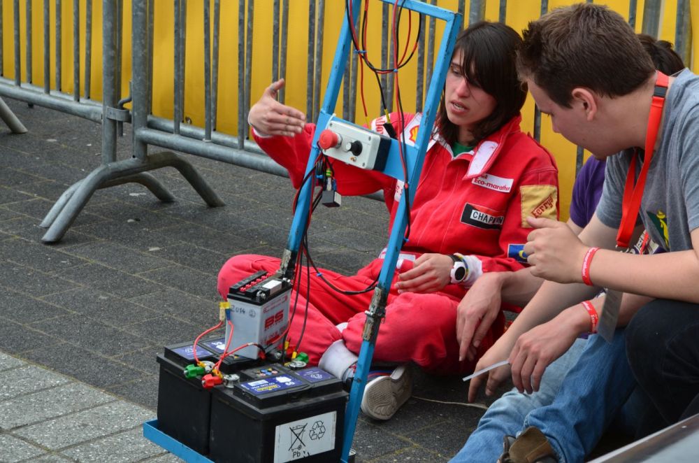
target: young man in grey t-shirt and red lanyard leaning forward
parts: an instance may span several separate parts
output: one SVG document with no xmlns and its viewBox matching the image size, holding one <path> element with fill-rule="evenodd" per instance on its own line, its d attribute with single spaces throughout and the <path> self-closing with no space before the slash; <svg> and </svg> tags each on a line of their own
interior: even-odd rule
<svg viewBox="0 0 699 463">
<path fill-rule="evenodd" d="M 579 236 L 561 222 L 528 219 L 535 230 L 524 251 L 532 273 L 547 281 L 476 366 L 510 361 L 489 373 L 487 391 L 510 372 L 519 390 L 537 390 L 549 346 L 519 343 L 521 334 L 607 288 L 645 297 L 622 304 L 619 318 L 635 313 L 626 329 L 628 361 L 657 411 L 668 424 L 696 413 L 699 78 L 683 71 L 664 79 L 624 19 L 589 3 L 530 23 L 518 68 L 554 131 L 607 159 L 607 171 L 596 215 Z M 617 252 L 643 226 L 668 252 Z M 599 315 L 581 305 L 570 316 L 594 332 Z"/>
</svg>

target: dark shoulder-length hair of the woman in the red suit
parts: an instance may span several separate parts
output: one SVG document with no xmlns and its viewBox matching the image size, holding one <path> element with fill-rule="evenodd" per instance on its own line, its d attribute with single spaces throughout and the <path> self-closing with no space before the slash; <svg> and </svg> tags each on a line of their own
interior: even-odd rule
<svg viewBox="0 0 699 463">
<path fill-rule="evenodd" d="M 468 81 L 481 87 L 496 100 L 493 112 L 476 124 L 471 131 L 481 141 L 499 129 L 524 105 L 526 87 L 519 83 L 514 65 L 521 38 L 509 26 L 499 22 L 480 21 L 471 24 L 456 37 L 454 55 L 462 52 L 461 73 Z M 459 127 L 449 121 L 444 92 L 437 113 L 437 129 L 442 138 L 452 145 Z"/>
</svg>

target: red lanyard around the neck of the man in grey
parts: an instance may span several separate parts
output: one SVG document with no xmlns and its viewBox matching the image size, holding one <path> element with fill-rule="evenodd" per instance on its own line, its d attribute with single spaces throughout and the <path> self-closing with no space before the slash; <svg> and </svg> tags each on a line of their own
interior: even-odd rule
<svg viewBox="0 0 699 463">
<path fill-rule="evenodd" d="M 637 152 L 634 150 L 631 161 L 628 164 L 626 173 L 626 185 L 624 185 L 624 199 L 621 203 L 621 225 L 617 232 L 617 246 L 628 248 L 628 241 L 631 238 L 636 225 L 638 210 L 641 207 L 643 197 L 643 187 L 646 185 L 648 169 L 653 158 L 653 149 L 660 128 L 660 120 L 663 116 L 663 105 L 665 104 L 665 93 L 668 91 L 668 76 L 658 71 L 656 85 L 653 91 L 653 101 L 651 101 L 651 112 L 648 116 L 648 128 L 646 129 L 646 146 L 644 152 L 643 166 L 634 185 L 636 175 Z"/>
</svg>

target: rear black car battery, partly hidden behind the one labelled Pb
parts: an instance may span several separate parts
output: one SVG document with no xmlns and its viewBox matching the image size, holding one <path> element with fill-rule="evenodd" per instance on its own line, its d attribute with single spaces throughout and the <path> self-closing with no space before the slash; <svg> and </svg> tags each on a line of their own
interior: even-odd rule
<svg viewBox="0 0 699 463">
<path fill-rule="evenodd" d="M 196 348 L 201 362 L 215 363 L 219 359 L 222 339 L 200 341 Z M 225 346 L 225 345 L 224 345 Z M 211 390 L 201 385 L 201 376 L 185 377 L 187 365 L 194 364 L 194 343 L 178 343 L 164 348 L 157 356 L 160 365 L 158 380 L 159 429 L 187 447 L 207 455 L 209 450 L 209 422 Z M 226 357 L 220 366 L 224 374 L 250 368 L 261 361 L 245 357 Z M 247 377 L 246 377 L 247 378 Z"/>
</svg>

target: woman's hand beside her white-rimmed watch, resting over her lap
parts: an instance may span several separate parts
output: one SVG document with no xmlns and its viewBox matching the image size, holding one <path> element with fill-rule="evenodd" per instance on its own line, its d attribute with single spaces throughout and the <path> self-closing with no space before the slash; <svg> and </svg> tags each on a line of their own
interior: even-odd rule
<svg viewBox="0 0 699 463">
<path fill-rule="evenodd" d="M 451 283 L 454 261 L 444 254 L 423 254 L 412 269 L 398 275 L 398 292 L 436 292 Z"/>
</svg>

